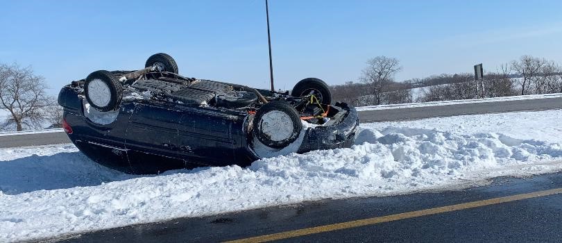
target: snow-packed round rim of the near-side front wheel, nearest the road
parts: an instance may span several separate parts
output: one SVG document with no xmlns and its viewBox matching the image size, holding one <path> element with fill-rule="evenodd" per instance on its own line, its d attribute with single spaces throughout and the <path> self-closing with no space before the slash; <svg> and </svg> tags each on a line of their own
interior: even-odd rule
<svg viewBox="0 0 562 243">
<path fill-rule="evenodd" d="M 279 110 L 272 110 L 264 114 L 259 125 L 259 131 L 262 131 L 273 142 L 288 140 L 293 135 L 291 117 Z"/>
</svg>

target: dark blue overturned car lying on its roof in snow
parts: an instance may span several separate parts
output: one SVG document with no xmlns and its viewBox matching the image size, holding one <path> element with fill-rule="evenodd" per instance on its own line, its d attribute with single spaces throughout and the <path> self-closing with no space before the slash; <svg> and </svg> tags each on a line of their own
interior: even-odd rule
<svg viewBox="0 0 562 243">
<path fill-rule="evenodd" d="M 349 147 L 357 111 L 305 78 L 289 92 L 187 78 L 157 53 L 137 71 L 96 71 L 60 90 L 63 128 L 92 160 L 132 174 L 250 165 L 259 158 Z"/>
</svg>

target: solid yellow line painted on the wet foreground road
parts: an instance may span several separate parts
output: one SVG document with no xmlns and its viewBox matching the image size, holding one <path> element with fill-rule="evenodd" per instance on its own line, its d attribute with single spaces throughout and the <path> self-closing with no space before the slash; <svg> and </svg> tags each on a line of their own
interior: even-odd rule
<svg viewBox="0 0 562 243">
<path fill-rule="evenodd" d="M 360 226 L 368 226 L 368 225 L 380 224 L 380 223 L 389 222 L 389 221 L 396 221 L 396 220 L 400 220 L 400 219 L 411 219 L 411 218 L 414 218 L 414 217 L 422 217 L 422 216 L 425 216 L 425 215 L 436 215 L 436 214 L 443 213 L 443 212 L 452 212 L 452 211 L 464 210 L 464 209 L 468 209 L 468 208 L 478 208 L 478 207 L 483 207 L 483 206 L 488 206 L 488 205 L 493 205 L 493 204 L 498 204 L 498 203 L 507 203 L 507 202 L 510 202 L 510 201 L 520 201 L 520 200 L 523 200 L 523 199 L 532 199 L 532 198 L 539 197 L 539 196 L 549 196 L 549 195 L 560 194 L 560 193 L 562 193 L 562 188 L 556 188 L 556 189 L 545 190 L 545 191 L 540 191 L 540 192 L 531 192 L 531 193 L 518 194 L 518 195 L 513 195 L 513 196 L 498 197 L 498 198 L 495 198 L 495 199 L 486 199 L 486 200 L 482 200 L 482 201 L 472 201 L 472 202 L 468 202 L 468 203 L 454 204 L 454 205 L 451 205 L 451 206 L 444 206 L 444 207 L 439 207 L 439 208 L 429 208 L 429 209 L 425 209 L 425 210 L 402 212 L 402 213 L 399 213 L 399 214 L 396 214 L 396 215 L 386 215 L 386 216 L 382 216 L 382 217 L 372 217 L 372 218 L 369 218 L 369 219 L 359 219 L 359 220 L 355 220 L 355 221 L 347 221 L 347 222 L 338 223 L 338 224 L 327 224 L 327 225 L 324 225 L 324 226 L 302 228 L 302 229 L 298 229 L 298 230 L 294 230 L 294 231 L 285 231 L 285 232 L 275 233 L 275 234 L 271 234 L 271 235 L 260 235 L 260 236 L 250 237 L 250 238 L 241 239 L 241 240 L 232 240 L 232 241 L 230 241 L 230 243 L 232 243 L 232 242 L 236 242 L 236 243 L 238 243 L 238 242 L 269 242 L 269 241 L 272 241 L 272 240 L 282 240 L 282 239 L 287 239 L 287 238 L 291 238 L 291 237 L 298 237 L 298 236 L 303 236 L 303 235 L 312 235 L 312 234 L 323 233 L 323 232 L 328 232 L 328 231 L 337 231 L 337 230 L 341 230 L 341 229 L 345 229 L 345 228 L 355 228 L 355 227 L 360 227 Z"/>
</svg>

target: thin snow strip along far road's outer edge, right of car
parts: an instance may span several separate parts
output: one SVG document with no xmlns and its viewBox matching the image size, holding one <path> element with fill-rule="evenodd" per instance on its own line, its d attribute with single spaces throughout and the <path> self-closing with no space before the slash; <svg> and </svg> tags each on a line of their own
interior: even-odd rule
<svg viewBox="0 0 562 243">
<path fill-rule="evenodd" d="M 486 98 L 486 99 L 463 99 L 457 101 L 433 101 L 433 102 L 425 102 L 425 103 L 400 103 L 400 104 L 393 104 L 393 105 L 361 106 L 361 107 L 356 107 L 356 109 L 357 111 L 388 110 L 388 109 L 416 108 L 416 107 L 426 107 L 426 106 L 451 106 L 451 105 L 459 105 L 463 103 L 519 101 L 519 100 L 527 100 L 527 99 L 550 99 L 550 98 L 561 98 L 561 97 L 562 94 L 529 94 L 529 95 L 519 95 L 515 97 L 496 97 L 496 98 Z"/>
</svg>

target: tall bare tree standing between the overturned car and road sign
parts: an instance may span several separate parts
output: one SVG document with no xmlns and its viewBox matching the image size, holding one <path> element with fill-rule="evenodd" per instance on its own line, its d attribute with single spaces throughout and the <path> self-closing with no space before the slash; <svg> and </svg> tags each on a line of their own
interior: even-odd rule
<svg viewBox="0 0 562 243">
<path fill-rule="evenodd" d="M 400 62 L 396 58 L 377 56 L 367 60 L 367 67 L 363 69 L 360 80 L 368 84 L 374 105 L 380 105 L 381 94 L 386 91 L 386 86 L 394 80 L 395 74 L 401 69 Z"/>
</svg>

